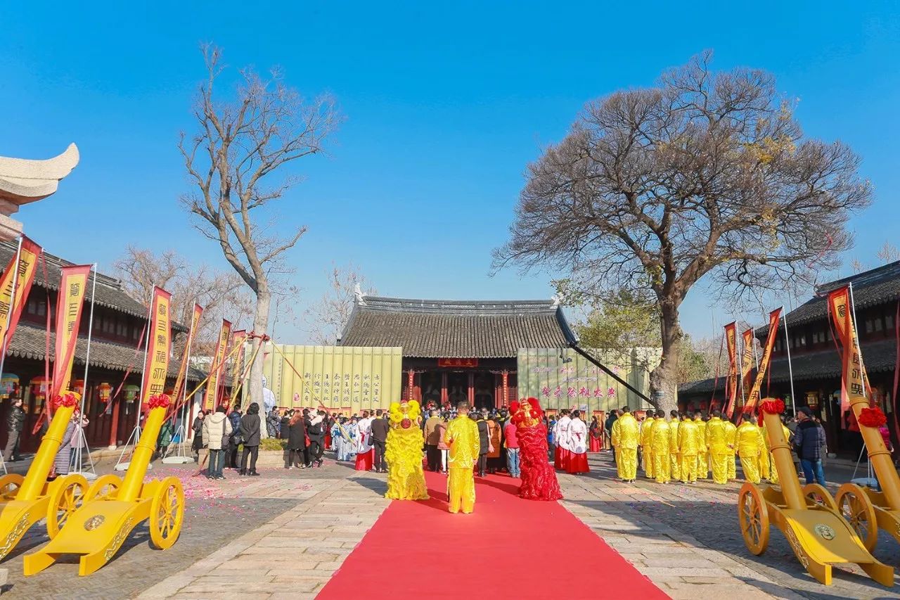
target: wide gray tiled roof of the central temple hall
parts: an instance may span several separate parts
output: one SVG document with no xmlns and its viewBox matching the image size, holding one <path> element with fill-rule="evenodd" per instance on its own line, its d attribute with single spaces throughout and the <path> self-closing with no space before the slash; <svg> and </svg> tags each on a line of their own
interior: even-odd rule
<svg viewBox="0 0 900 600">
<path fill-rule="evenodd" d="M 551 300 L 452 301 L 357 298 L 342 346 L 401 346 L 419 358 L 515 358 L 520 348 L 576 341 Z"/>
</svg>

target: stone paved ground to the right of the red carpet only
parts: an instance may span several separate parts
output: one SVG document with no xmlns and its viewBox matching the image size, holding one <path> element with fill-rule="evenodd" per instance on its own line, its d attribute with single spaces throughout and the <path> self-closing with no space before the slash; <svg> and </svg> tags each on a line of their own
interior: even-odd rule
<svg viewBox="0 0 900 600">
<path fill-rule="evenodd" d="M 900 597 L 900 589 L 879 586 L 855 566 L 852 572 L 835 568 L 833 585 L 820 585 L 774 527 L 769 549 L 753 556 L 737 521 L 736 483 L 661 486 L 639 478 L 623 484 L 610 478 L 615 473 L 608 454 L 592 455 L 590 463 L 589 477 L 561 477 L 564 504 L 673 597 L 737 592 L 747 585 L 783 598 Z M 900 566 L 900 547 L 888 536 L 879 538 L 876 556 Z"/>
</svg>

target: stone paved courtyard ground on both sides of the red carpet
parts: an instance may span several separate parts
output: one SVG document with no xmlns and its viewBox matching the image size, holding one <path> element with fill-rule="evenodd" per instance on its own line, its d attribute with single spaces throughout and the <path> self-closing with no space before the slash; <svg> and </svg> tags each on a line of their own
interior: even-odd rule
<svg viewBox="0 0 900 600">
<path fill-rule="evenodd" d="M 836 572 L 833 586 L 819 585 L 777 530 L 769 550 L 752 556 L 738 530 L 735 484 L 626 485 L 610 478 L 608 455 L 590 462 L 588 476 L 560 476 L 563 505 L 673 598 L 900 597 L 853 573 Z M 226 471 L 225 482 L 195 473 L 163 465 L 153 472 L 178 475 L 185 485 L 184 531 L 170 550 L 150 549 L 143 526 L 90 577 L 77 577 L 73 559 L 26 579 L 23 552 L 46 541 L 36 526 L 3 564 L 10 571 L 4 597 L 313 597 L 388 505 L 385 476 L 333 460 L 312 470 L 266 468 L 263 477 Z M 880 540 L 877 555 L 900 564 L 894 541 Z"/>
</svg>

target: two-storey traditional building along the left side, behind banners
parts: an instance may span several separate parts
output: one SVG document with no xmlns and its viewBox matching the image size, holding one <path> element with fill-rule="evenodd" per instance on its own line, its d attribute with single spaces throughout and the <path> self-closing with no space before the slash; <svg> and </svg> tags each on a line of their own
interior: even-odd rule
<svg viewBox="0 0 900 600">
<path fill-rule="evenodd" d="M 5 268 L 14 258 L 16 243 L 0 242 L 0 268 Z M 20 317 L 13 338 L 9 341 L 4 360 L 3 376 L 0 379 L 0 400 L 5 423 L 5 412 L 11 405 L 10 399 L 21 397 L 27 414 L 23 429 L 22 446 L 33 450 L 40 441 L 31 435 L 31 430 L 47 400 L 48 379 L 45 357 L 49 351 L 52 372 L 55 335 L 47 333 L 47 323 L 55 323 L 60 268 L 71 265 L 65 259 L 43 253 L 45 264 L 39 264 L 31 292 Z M 92 275 L 88 278 L 93 283 Z M 88 369 L 85 393 L 85 359 L 87 359 L 87 332 L 90 318 L 90 288 L 85 296 L 81 324 L 75 350 L 75 364 L 72 369 L 72 386 L 77 392 L 85 393 L 85 415 L 90 423 L 85 428 L 87 441 L 91 446 L 112 446 L 128 439 L 139 414 L 138 391 L 143 371 L 143 351 L 138 351 L 138 342 L 147 323 L 147 309 L 136 302 L 121 287 L 121 282 L 113 277 L 95 274 L 96 293 L 94 298 L 94 328 L 91 335 L 90 368 Z M 51 328 L 52 328 L 51 324 Z M 186 328 L 172 323 L 173 336 L 186 332 Z M 178 361 L 170 360 L 169 385 L 174 384 Z M 202 376 L 192 369 L 188 377 L 195 384 Z M 106 401 L 119 390 L 112 403 Z M 5 427 L 0 428 L 0 439 L 5 441 Z"/>
</svg>

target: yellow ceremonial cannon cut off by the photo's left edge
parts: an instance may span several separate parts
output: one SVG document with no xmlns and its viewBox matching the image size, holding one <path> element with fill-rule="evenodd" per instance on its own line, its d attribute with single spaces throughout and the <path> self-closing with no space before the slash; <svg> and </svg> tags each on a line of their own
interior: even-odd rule
<svg viewBox="0 0 900 600">
<path fill-rule="evenodd" d="M 25 477 L 9 474 L 0 477 L 0 559 L 4 559 L 31 525 L 47 519 L 47 534 L 52 539 L 75 513 L 87 489 L 83 475 L 73 473 L 48 481 L 50 468 L 80 398 L 74 392 L 58 396 L 56 412 Z"/>
</svg>

